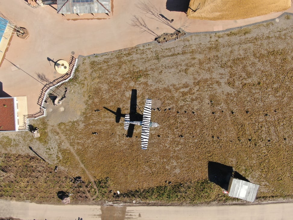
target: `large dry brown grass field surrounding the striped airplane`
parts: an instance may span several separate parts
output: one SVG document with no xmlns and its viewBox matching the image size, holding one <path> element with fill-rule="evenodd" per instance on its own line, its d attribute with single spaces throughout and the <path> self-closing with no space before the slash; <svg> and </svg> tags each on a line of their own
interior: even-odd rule
<svg viewBox="0 0 293 220">
<path fill-rule="evenodd" d="M 259 184 L 259 199 L 292 197 L 292 28 L 286 15 L 278 23 L 80 56 L 65 84 L 65 110 L 49 103 L 48 116 L 31 121 L 43 139 L 1 134 L 3 145 L 14 146 L 2 151 L 18 152 L 17 142 L 21 149 L 33 146 L 88 184 L 62 132 L 96 180 L 95 202 L 231 201 L 208 181 L 209 161 Z M 150 129 L 147 150 L 140 149 L 141 127 L 128 138 L 103 108 L 129 113 L 133 89 L 137 112 L 151 98 L 152 121 L 160 125 Z"/>
</svg>

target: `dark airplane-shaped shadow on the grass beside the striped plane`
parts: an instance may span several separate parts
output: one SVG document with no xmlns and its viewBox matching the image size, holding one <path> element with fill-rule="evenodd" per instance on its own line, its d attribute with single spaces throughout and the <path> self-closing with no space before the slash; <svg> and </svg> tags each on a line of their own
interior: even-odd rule
<svg viewBox="0 0 293 220">
<path fill-rule="evenodd" d="M 115 115 L 115 122 L 119 123 L 121 117 L 125 118 L 125 114 L 121 114 L 121 108 L 117 108 L 116 112 L 108 109 L 107 107 L 103 107 L 109 112 Z M 142 121 L 143 115 L 137 112 L 137 90 L 131 90 L 131 99 L 130 99 L 130 112 L 129 112 L 130 121 Z M 130 124 L 127 130 L 127 137 L 131 138 L 133 136 L 134 124 Z"/>
</svg>

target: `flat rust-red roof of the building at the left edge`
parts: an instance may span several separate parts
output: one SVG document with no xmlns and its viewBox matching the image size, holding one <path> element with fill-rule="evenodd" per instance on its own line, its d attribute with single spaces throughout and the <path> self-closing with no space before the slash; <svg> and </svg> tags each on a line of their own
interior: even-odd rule
<svg viewBox="0 0 293 220">
<path fill-rule="evenodd" d="M 0 98 L 0 131 L 15 131 L 14 99 Z"/>
</svg>

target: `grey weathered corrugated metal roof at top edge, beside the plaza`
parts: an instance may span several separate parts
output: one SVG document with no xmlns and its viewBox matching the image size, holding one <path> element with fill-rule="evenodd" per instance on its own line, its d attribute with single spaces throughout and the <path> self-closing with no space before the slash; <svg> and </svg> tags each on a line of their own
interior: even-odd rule
<svg viewBox="0 0 293 220">
<path fill-rule="evenodd" d="M 110 13 L 111 0 L 57 0 L 58 14 Z"/>
</svg>

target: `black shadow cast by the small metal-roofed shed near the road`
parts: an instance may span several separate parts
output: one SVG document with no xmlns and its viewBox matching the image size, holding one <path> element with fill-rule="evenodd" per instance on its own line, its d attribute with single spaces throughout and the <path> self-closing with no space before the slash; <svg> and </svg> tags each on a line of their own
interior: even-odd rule
<svg viewBox="0 0 293 220">
<path fill-rule="evenodd" d="M 228 190 L 230 177 L 249 182 L 237 171 L 233 171 L 233 167 L 213 161 L 208 162 L 208 176 L 211 182 L 216 183 L 225 190 Z"/>
</svg>

